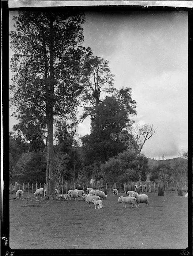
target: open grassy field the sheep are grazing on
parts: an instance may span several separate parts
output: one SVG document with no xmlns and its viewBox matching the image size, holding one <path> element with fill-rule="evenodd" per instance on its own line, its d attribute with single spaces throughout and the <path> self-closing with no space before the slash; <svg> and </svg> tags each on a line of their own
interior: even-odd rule
<svg viewBox="0 0 193 256">
<path fill-rule="evenodd" d="M 125 194 L 119 194 L 119 196 Z M 147 193 L 149 206 L 122 208 L 107 195 L 101 210 L 83 200 L 10 195 L 11 249 L 185 249 L 188 197 Z"/>
</svg>

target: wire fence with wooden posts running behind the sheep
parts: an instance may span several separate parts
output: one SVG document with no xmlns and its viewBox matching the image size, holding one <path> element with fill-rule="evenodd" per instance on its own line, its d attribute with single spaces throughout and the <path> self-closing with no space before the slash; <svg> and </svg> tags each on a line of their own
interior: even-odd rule
<svg viewBox="0 0 193 256">
<path fill-rule="evenodd" d="M 119 193 L 126 193 L 128 190 L 133 190 L 134 188 L 139 189 L 140 192 L 158 192 L 160 186 L 163 186 L 162 182 L 158 181 L 150 181 L 145 184 L 142 182 L 139 184 L 139 181 L 132 181 L 132 182 L 107 182 L 107 183 L 94 183 L 91 184 L 90 182 L 84 185 L 77 185 L 73 182 L 65 182 L 64 185 L 58 187 L 56 185 L 56 189 L 58 189 L 59 193 L 68 193 L 69 189 L 83 189 L 86 192 L 88 187 L 93 188 L 94 190 L 104 190 L 106 189 L 107 193 L 112 193 L 113 189 L 116 188 Z M 24 193 L 34 193 L 38 188 L 46 189 L 46 183 L 10 183 L 10 193 L 16 193 L 18 189 L 22 189 Z M 184 192 L 188 192 L 188 186 L 186 182 L 166 182 L 164 190 L 167 192 L 177 192 L 178 189 L 181 189 Z"/>
</svg>

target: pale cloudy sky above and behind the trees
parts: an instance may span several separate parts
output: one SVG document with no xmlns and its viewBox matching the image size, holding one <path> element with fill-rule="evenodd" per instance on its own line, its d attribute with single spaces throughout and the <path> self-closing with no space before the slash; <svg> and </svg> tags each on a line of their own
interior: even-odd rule
<svg viewBox="0 0 193 256">
<path fill-rule="evenodd" d="M 156 128 L 141 153 L 157 160 L 162 155 L 164 159 L 179 157 L 188 149 L 188 13 L 112 10 L 85 14 L 83 46 L 109 61 L 114 87 L 132 89 L 137 102 L 133 119 Z M 12 13 L 12 28 L 11 17 Z M 10 118 L 10 130 L 14 123 Z M 77 132 L 90 133 L 89 117 Z"/>
</svg>

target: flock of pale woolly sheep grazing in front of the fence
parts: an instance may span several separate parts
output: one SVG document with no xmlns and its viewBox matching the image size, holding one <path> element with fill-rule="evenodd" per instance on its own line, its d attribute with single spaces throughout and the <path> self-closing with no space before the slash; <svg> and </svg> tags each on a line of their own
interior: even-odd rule
<svg viewBox="0 0 193 256">
<path fill-rule="evenodd" d="M 81 199 L 83 199 L 87 204 L 88 207 L 90 207 L 90 204 L 93 203 L 98 209 L 102 209 L 103 204 L 102 204 L 102 200 L 103 199 L 107 199 L 107 195 L 105 195 L 105 193 L 101 190 L 94 190 L 92 188 L 87 188 L 86 190 L 87 193 L 84 193 L 83 190 L 81 189 L 75 189 L 72 190 L 70 189 L 68 191 L 68 193 L 61 195 L 64 197 L 65 200 L 72 200 L 72 198 L 74 200 L 77 200 L 78 197 L 80 197 Z M 55 189 L 55 194 L 58 194 L 58 190 Z M 38 188 L 35 193 L 34 196 L 37 198 L 38 196 L 46 196 L 46 189 L 43 190 L 43 188 Z M 117 196 L 118 195 L 118 191 L 116 188 L 113 189 L 113 196 Z M 16 192 L 16 197 L 20 198 L 23 196 L 23 191 L 21 189 L 19 189 Z M 185 195 L 185 197 L 188 196 L 188 193 Z M 138 194 L 136 191 L 127 191 L 126 192 L 126 196 L 120 196 L 118 197 L 118 203 L 122 203 L 123 204 L 123 208 L 126 208 L 126 204 L 132 204 L 132 207 L 135 205 L 136 208 L 138 208 L 140 203 L 146 203 L 146 206 L 149 205 L 149 201 L 148 201 L 148 195 L 146 194 Z"/>
</svg>

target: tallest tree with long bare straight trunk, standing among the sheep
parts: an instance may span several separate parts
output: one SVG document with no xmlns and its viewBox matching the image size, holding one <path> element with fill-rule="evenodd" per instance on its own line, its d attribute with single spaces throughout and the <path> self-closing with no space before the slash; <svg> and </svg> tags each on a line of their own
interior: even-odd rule
<svg viewBox="0 0 193 256">
<path fill-rule="evenodd" d="M 13 72 L 11 105 L 33 109 L 48 128 L 46 199 L 56 198 L 53 173 L 53 119 L 75 111 L 79 79 L 87 50 L 82 46 L 82 13 L 19 11 L 11 31 Z"/>
</svg>

